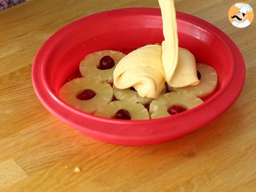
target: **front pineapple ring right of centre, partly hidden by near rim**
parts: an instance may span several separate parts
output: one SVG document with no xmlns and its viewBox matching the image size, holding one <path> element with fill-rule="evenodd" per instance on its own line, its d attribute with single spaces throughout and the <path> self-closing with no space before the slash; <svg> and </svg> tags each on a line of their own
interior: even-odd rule
<svg viewBox="0 0 256 192">
<path fill-rule="evenodd" d="M 151 119 L 170 116 L 168 109 L 173 105 L 179 105 L 186 109 L 192 109 L 203 101 L 191 93 L 171 92 L 159 96 L 151 102 L 149 113 Z"/>
</svg>

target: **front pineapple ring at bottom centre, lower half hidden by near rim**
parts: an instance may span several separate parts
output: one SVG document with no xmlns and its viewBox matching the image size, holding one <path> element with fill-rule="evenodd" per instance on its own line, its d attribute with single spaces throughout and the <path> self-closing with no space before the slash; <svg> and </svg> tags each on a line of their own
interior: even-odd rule
<svg viewBox="0 0 256 192">
<path fill-rule="evenodd" d="M 140 103 L 133 101 L 114 101 L 99 108 L 94 115 L 113 118 L 120 109 L 126 109 L 131 115 L 131 120 L 149 119 L 148 110 Z"/>
</svg>

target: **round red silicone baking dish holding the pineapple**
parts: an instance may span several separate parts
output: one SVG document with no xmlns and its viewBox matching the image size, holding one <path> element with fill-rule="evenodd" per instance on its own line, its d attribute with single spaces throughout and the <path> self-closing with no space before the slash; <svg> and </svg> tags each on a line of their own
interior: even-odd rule
<svg viewBox="0 0 256 192">
<path fill-rule="evenodd" d="M 32 81 L 42 104 L 56 117 L 87 136 L 108 143 L 149 145 L 177 139 L 201 128 L 235 102 L 245 79 L 244 59 L 236 44 L 217 27 L 198 17 L 177 12 L 179 46 L 197 62 L 218 73 L 218 87 L 204 103 L 160 119 L 106 119 L 84 113 L 58 98 L 58 90 L 89 53 L 113 49 L 127 53 L 145 44 L 162 42 L 160 9 L 128 8 L 79 19 L 53 34 L 39 49 Z"/>
</svg>

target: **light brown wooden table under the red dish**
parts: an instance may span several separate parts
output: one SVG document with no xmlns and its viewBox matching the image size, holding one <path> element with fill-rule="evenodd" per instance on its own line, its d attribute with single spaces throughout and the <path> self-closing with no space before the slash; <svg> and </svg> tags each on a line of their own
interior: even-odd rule
<svg viewBox="0 0 256 192">
<path fill-rule="evenodd" d="M 246 2 L 256 11 L 255 0 Z M 62 26 L 108 9 L 158 7 L 157 0 L 29 0 L 1 11 L 0 191 L 256 191 L 256 20 L 244 29 L 232 26 L 233 3 L 175 0 L 177 11 L 213 23 L 238 45 L 247 69 L 239 99 L 192 134 L 133 147 L 93 140 L 56 119 L 34 93 L 31 67 Z"/>
</svg>

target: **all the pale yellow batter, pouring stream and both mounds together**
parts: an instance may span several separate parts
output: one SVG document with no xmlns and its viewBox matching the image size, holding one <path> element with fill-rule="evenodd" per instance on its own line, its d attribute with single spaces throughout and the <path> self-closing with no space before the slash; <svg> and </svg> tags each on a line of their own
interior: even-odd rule
<svg viewBox="0 0 256 192">
<path fill-rule="evenodd" d="M 174 0 L 158 0 L 163 20 L 162 46 L 146 45 L 116 65 L 113 83 L 118 89 L 134 87 L 142 97 L 155 99 L 165 88 L 199 84 L 195 57 L 178 47 Z"/>
</svg>

